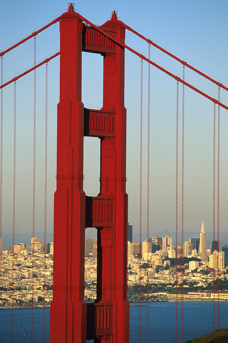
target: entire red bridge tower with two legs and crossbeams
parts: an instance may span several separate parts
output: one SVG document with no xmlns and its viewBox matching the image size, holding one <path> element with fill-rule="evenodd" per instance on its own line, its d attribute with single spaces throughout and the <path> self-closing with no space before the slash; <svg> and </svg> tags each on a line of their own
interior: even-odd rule
<svg viewBox="0 0 228 343">
<path fill-rule="evenodd" d="M 103 25 L 124 41 L 116 12 Z M 103 108 L 82 103 L 82 51 L 104 57 Z M 60 20 L 60 101 L 54 200 L 50 342 L 129 343 L 128 195 L 124 48 L 83 24 L 72 4 Z M 83 191 L 84 136 L 100 138 L 100 193 Z M 97 228 L 97 298 L 84 301 L 85 228 Z"/>
</svg>

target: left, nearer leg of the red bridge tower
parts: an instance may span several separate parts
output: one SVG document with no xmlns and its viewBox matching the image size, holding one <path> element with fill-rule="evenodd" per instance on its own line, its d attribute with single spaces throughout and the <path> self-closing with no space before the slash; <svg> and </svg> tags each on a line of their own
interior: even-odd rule
<svg viewBox="0 0 228 343">
<path fill-rule="evenodd" d="M 81 77 L 82 21 L 69 7 L 60 21 L 57 175 L 66 177 L 57 177 L 54 197 L 55 257 L 50 342 L 86 342 L 85 193 L 83 179 L 77 177 L 83 174 Z M 72 174 L 75 174 L 74 178 Z"/>
</svg>

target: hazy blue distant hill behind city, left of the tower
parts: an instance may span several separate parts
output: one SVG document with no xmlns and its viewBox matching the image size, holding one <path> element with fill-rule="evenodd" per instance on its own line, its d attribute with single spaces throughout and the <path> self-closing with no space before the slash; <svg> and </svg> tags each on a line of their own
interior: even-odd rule
<svg viewBox="0 0 228 343">
<path fill-rule="evenodd" d="M 15 233 L 14 242 L 15 242 L 15 244 L 27 243 L 28 247 L 29 247 L 29 244 L 31 243 L 32 237 L 33 237 L 32 232 Z M 44 232 L 36 232 L 36 237 L 38 238 L 39 241 L 41 241 L 42 237 L 44 237 Z M 53 233 L 47 233 L 46 234 L 46 242 L 47 243 L 53 242 Z M 12 246 L 13 246 L 12 234 L 7 234 L 5 232 L 2 232 L 2 250 L 9 249 L 9 245 L 12 249 Z"/>
</svg>

